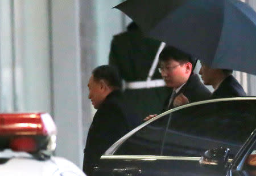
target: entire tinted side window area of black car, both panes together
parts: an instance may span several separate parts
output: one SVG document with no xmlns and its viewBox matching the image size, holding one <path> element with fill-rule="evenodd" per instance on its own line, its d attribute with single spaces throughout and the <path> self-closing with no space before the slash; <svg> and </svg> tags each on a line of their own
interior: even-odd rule
<svg viewBox="0 0 256 176">
<path fill-rule="evenodd" d="M 256 127 L 255 104 L 232 100 L 176 110 L 135 132 L 114 154 L 201 156 L 228 147 L 234 156 Z"/>
</svg>

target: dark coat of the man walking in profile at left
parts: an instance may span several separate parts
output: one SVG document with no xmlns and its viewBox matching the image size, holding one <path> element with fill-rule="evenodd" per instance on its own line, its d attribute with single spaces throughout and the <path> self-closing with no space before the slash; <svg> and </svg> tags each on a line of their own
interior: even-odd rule
<svg viewBox="0 0 256 176">
<path fill-rule="evenodd" d="M 110 93 L 98 108 L 84 149 L 82 169 L 88 176 L 106 149 L 128 132 L 127 114 L 121 91 Z"/>
</svg>

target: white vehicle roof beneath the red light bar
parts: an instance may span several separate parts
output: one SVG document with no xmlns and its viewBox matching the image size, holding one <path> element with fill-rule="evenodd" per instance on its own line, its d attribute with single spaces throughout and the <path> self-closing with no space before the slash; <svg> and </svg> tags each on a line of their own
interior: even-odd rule
<svg viewBox="0 0 256 176">
<path fill-rule="evenodd" d="M 2 176 L 65 176 L 85 174 L 75 164 L 61 157 L 52 156 L 48 160 L 36 160 L 26 152 L 13 152 L 9 149 L 0 152 L 0 172 Z"/>
</svg>

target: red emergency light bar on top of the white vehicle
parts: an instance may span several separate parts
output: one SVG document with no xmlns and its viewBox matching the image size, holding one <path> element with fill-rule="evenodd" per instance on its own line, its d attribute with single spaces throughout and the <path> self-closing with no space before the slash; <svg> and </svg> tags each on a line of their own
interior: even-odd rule
<svg viewBox="0 0 256 176">
<path fill-rule="evenodd" d="M 56 126 L 47 113 L 0 114 L 0 148 L 13 151 L 54 151 Z"/>
</svg>

